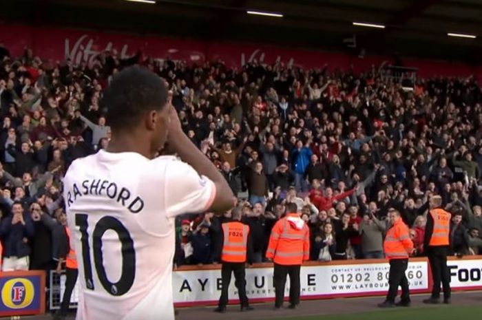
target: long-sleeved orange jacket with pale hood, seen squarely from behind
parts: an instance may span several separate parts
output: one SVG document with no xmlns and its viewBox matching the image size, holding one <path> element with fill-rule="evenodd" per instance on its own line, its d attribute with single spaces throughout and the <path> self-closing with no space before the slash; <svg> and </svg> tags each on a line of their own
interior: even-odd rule
<svg viewBox="0 0 482 320">
<path fill-rule="evenodd" d="M 284 266 L 301 265 L 310 258 L 310 230 L 297 213 L 289 213 L 273 226 L 266 258 Z"/>
</svg>

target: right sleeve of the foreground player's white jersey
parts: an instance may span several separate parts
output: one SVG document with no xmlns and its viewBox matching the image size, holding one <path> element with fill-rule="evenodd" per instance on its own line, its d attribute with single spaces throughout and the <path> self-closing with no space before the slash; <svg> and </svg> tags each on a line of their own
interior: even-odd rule
<svg viewBox="0 0 482 320">
<path fill-rule="evenodd" d="M 189 164 L 174 160 L 166 167 L 165 204 L 167 215 L 207 211 L 216 197 L 216 185 L 199 175 Z"/>
</svg>

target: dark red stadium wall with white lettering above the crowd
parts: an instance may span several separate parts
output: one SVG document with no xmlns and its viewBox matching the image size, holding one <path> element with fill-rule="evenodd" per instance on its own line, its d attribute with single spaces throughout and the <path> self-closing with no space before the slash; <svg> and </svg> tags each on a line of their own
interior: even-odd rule
<svg viewBox="0 0 482 320">
<path fill-rule="evenodd" d="M 116 50 L 121 56 L 131 56 L 138 49 L 154 58 L 172 58 L 191 63 L 212 61 L 220 58 L 230 67 L 240 67 L 253 58 L 266 63 L 277 60 L 300 67 L 339 67 L 347 70 L 353 65 L 355 72 L 363 72 L 371 65 L 383 61 L 392 62 L 384 56 L 358 58 L 344 53 L 295 50 L 268 45 L 242 43 L 213 43 L 205 41 L 171 39 L 160 36 L 140 36 L 114 32 L 73 30 L 58 28 L 33 28 L 28 25 L 0 24 L 0 43 L 10 49 L 14 56 L 22 54 L 25 47 L 31 47 L 34 54 L 53 61 L 63 61 L 72 56 L 74 61 L 92 61 L 106 49 Z M 482 65 L 472 66 L 447 61 L 428 61 L 406 58 L 404 64 L 419 68 L 419 76 L 470 76 L 482 77 Z"/>
</svg>

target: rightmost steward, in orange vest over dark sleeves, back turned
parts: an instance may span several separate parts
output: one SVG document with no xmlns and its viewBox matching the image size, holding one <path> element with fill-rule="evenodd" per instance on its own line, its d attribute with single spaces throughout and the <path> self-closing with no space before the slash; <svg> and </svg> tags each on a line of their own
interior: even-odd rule
<svg viewBox="0 0 482 320">
<path fill-rule="evenodd" d="M 450 271 L 447 255 L 450 248 L 450 218 L 447 211 L 441 209 L 442 198 L 434 195 L 430 198 L 423 250 L 427 253 L 432 270 L 432 295 L 423 303 L 439 303 L 440 284 L 443 286 L 443 303 L 450 303 Z"/>
</svg>

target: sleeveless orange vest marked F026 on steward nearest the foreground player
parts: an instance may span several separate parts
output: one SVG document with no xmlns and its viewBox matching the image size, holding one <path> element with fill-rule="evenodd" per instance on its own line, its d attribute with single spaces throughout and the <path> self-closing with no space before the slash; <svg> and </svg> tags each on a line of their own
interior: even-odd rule
<svg viewBox="0 0 482 320">
<path fill-rule="evenodd" d="M 224 242 L 222 244 L 222 262 L 246 262 L 249 226 L 241 222 L 222 224 Z"/>
</svg>

